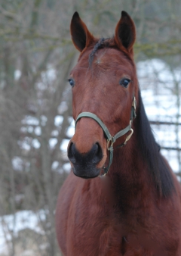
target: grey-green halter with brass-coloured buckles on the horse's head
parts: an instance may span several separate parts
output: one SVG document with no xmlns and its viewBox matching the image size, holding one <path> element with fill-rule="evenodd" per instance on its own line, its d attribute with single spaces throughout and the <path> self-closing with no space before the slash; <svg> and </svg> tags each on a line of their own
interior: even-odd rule
<svg viewBox="0 0 181 256">
<path fill-rule="evenodd" d="M 102 120 L 100 120 L 99 117 L 97 117 L 96 114 L 93 114 L 90 112 L 82 112 L 81 114 L 78 114 L 78 117 L 75 120 L 75 128 L 76 128 L 76 124 L 77 124 L 78 120 L 80 120 L 81 117 L 90 117 L 90 118 L 94 119 L 95 121 L 97 121 L 97 123 L 99 123 L 100 127 L 103 129 L 103 132 L 106 136 L 107 150 L 109 151 L 109 164 L 107 167 L 103 167 L 104 173 L 100 176 L 105 176 L 109 171 L 109 168 L 112 164 L 112 159 L 113 159 L 113 149 L 114 149 L 113 144 L 115 143 L 116 139 L 120 138 L 121 136 L 124 136 L 126 133 L 128 133 L 130 131 L 130 134 L 127 136 L 125 142 L 116 147 L 116 148 L 121 148 L 122 146 L 127 144 L 128 140 L 133 135 L 133 129 L 131 128 L 131 124 L 133 122 L 133 118 L 136 117 L 136 108 L 137 108 L 137 101 L 136 101 L 136 98 L 133 96 L 133 101 L 132 101 L 132 106 L 131 106 L 131 111 L 130 111 L 130 124 L 123 130 L 116 133 L 115 136 L 111 136 L 106 125 L 103 123 Z"/>
</svg>

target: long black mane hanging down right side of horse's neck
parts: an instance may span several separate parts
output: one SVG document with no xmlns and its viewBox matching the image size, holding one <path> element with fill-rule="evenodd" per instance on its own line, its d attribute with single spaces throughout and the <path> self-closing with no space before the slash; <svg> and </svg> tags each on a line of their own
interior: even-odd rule
<svg viewBox="0 0 181 256">
<path fill-rule="evenodd" d="M 151 126 L 149 124 L 143 101 L 139 91 L 139 107 L 137 112 L 137 136 L 140 143 L 140 151 L 143 159 L 149 164 L 155 185 L 161 195 L 166 198 L 174 190 L 173 176 L 170 173 L 167 162 L 159 152 L 158 144 L 155 142 Z"/>
</svg>

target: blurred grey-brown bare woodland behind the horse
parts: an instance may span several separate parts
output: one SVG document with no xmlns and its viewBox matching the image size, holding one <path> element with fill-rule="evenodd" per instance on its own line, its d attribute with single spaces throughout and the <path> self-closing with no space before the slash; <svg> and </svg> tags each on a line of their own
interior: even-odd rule
<svg viewBox="0 0 181 256">
<path fill-rule="evenodd" d="M 181 65 L 179 0 L 0 0 L 0 239 L 5 240 L 2 248 L 0 243 L 1 256 L 60 255 L 54 211 L 69 173 L 63 146 L 72 123 L 67 79 L 78 58 L 69 23 L 78 11 L 95 36 L 113 36 L 122 10 L 136 23 L 135 60 L 157 58 L 173 74 L 174 121 L 151 123 L 153 129 L 173 126 L 174 146 L 161 148 L 175 152 L 180 176 L 181 83 L 174 79 L 174 70 Z M 156 94 L 157 83 L 151 84 Z M 159 86 L 163 91 L 168 84 L 166 77 Z M 20 212 L 26 217 L 17 229 Z M 31 222 L 30 213 L 37 217 L 36 229 L 23 227 L 23 221 Z"/>
</svg>

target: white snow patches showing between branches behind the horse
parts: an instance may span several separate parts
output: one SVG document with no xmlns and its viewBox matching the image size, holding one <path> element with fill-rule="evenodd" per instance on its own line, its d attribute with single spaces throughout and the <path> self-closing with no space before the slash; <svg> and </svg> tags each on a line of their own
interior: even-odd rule
<svg viewBox="0 0 181 256">
<path fill-rule="evenodd" d="M 54 72 L 53 72 L 54 73 Z M 163 61 L 153 59 L 151 61 L 143 61 L 137 64 L 137 73 L 140 82 L 140 88 L 142 90 L 143 102 L 146 108 L 146 113 L 151 121 L 164 121 L 172 123 L 181 123 L 181 108 L 178 106 L 178 97 L 176 96 L 176 86 L 181 87 L 181 71 L 170 70 Z M 71 118 L 71 117 L 70 117 Z M 58 115 L 55 120 L 55 126 L 60 126 L 63 122 L 63 117 Z M 29 131 L 35 130 L 37 135 L 41 135 L 41 128 L 39 121 L 35 117 L 25 117 L 23 124 L 28 124 Z M 41 118 L 41 125 L 46 125 L 46 117 Z M 35 128 L 33 128 L 35 127 Z M 156 140 L 161 147 L 181 148 L 181 126 L 179 129 L 174 125 L 152 125 L 152 129 L 155 133 Z M 24 129 L 22 127 L 22 129 Z M 177 130 L 176 130 L 177 129 Z M 67 135 L 72 136 L 74 134 L 75 126 L 72 120 L 71 126 L 67 132 Z M 57 144 L 56 136 L 57 131 L 54 130 L 52 138 L 49 142 L 50 147 L 54 147 Z M 61 150 L 65 151 L 68 144 L 68 140 L 64 140 L 60 145 Z M 32 142 L 35 148 L 40 146 L 38 139 Z M 25 140 L 22 145 L 26 150 L 29 150 L 29 143 Z M 167 158 L 171 167 L 175 172 L 179 172 L 178 152 L 176 150 L 164 150 L 161 149 L 162 154 Z M 179 152 L 180 154 L 180 152 Z M 14 158 L 12 161 L 14 170 L 20 170 L 21 159 Z M 56 170 L 57 162 L 54 162 L 52 169 Z M 59 171 L 66 170 L 69 172 L 69 164 L 64 164 L 63 168 Z M 8 255 L 8 241 L 11 240 L 11 234 L 17 236 L 17 233 L 22 229 L 33 229 L 37 233 L 42 233 L 39 223 L 39 217 L 44 218 L 43 211 L 38 214 L 32 213 L 32 211 L 20 211 L 14 216 L 9 215 L 0 217 L 0 254 Z M 6 234 L 6 236 L 5 236 Z M 26 253 L 22 256 L 28 255 Z M 29 254 L 30 255 L 30 254 Z M 31 254 L 32 255 L 32 254 Z"/>
</svg>

